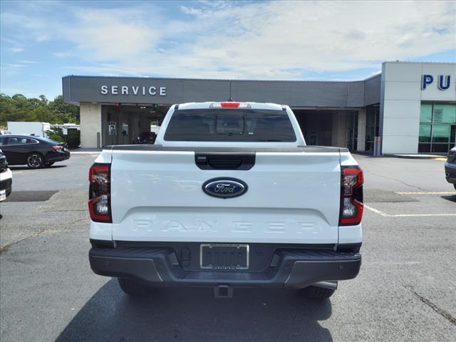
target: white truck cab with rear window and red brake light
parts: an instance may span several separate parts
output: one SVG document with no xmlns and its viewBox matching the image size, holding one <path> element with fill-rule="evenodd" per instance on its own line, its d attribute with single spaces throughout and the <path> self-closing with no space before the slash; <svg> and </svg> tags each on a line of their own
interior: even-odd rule
<svg viewBox="0 0 456 342">
<path fill-rule="evenodd" d="M 155 145 L 294 148 L 306 142 L 288 105 L 207 101 L 172 105 Z"/>
</svg>

